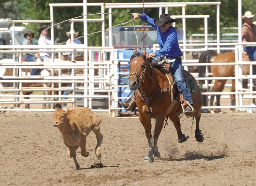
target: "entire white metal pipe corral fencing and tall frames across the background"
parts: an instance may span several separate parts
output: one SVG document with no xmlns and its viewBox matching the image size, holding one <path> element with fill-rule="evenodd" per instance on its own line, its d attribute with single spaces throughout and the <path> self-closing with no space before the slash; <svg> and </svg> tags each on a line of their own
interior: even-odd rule
<svg viewBox="0 0 256 186">
<path fill-rule="evenodd" d="M 219 14 L 220 14 L 220 2 L 182 2 L 182 3 L 136 3 L 136 6 L 134 3 L 86 3 L 86 0 L 84 0 L 84 3 L 52 3 L 49 4 L 50 6 L 50 20 L 37 20 L 37 21 L 27 21 L 27 23 L 51 23 L 53 26 L 53 8 L 58 6 L 83 6 L 84 7 L 84 15 L 87 15 L 87 6 L 100 6 L 102 17 L 100 19 L 87 19 L 86 17 L 84 19 L 73 19 L 71 21 L 71 28 L 73 27 L 74 22 L 76 21 L 83 21 L 84 22 L 84 45 L 79 46 L 67 46 L 65 45 L 52 45 L 50 47 L 46 47 L 44 49 L 49 49 L 49 52 L 52 53 L 58 53 L 59 57 L 56 62 L 52 59 L 51 62 L 45 62 L 45 63 L 21 63 L 21 58 L 19 57 L 19 60 L 16 60 L 13 58 L 13 63 L 8 62 L 1 63 L 0 69 L 3 68 L 12 68 L 13 69 L 13 76 L 3 76 L 2 79 L 0 79 L 0 82 L 3 83 L 13 83 L 13 86 L 10 88 L 2 88 L 0 89 L 0 92 L 12 92 L 12 94 L 2 94 L 0 104 L 6 104 L 10 103 L 15 104 L 15 106 L 18 106 L 17 109 L 10 109 L 1 108 L 0 110 L 25 110 L 23 108 L 24 104 L 34 104 L 34 103 L 49 103 L 49 104 L 55 104 L 55 103 L 68 103 L 72 104 L 72 107 L 76 106 L 77 99 L 81 98 L 83 99 L 83 106 L 88 106 L 90 108 L 93 108 L 95 105 L 93 104 L 94 98 L 100 98 L 100 99 L 107 99 L 107 108 L 106 109 L 96 109 L 95 111 L 108 111 L 109 113 L 112 113 L 113 116 L 117 115 L 117 110 L 120 110 L 118 107 L 118 100 L 121 98 L 127 98 L 122 97 L 118 95 L 119 87 L 127 87 L 127 85 L 120 84 L 120 76 L 126 76 L 128 74 L 128 71 L 123 72 L 120 70 L 120 65 L 127 66 L 129 59 L 119 59 L 117 56 L 117 51 L 114 50 L 112 47 L 104 47 L 104 9 L 109 9 L 109 32 L 111 35 L 111 27 L 112 27 L 112 9 L 115 8 L 149 8 L 149 7 L 157 7 L 159 8 L 159 14 L 162 13 L 162 8 L 165 9 L 165 13 L 168 13 L 168 7 L 181 7 L 182 8 L 182 15 L 176 16 L 176 18 L 182 18 L 182 24 L 184 28 L 183 32 L 183 44 L 180 44 L 180 47 L 183 51 L 183 53 L 191 52 L 191 51 L 204 51 L 206 49 L 210 49 L 210 46 L 215 46 L 214 48 L 211 47 L 211 49 L 217 50 L 217 52 L 220 51 L 220 47 L 224 45 L 239 45 L 239 47 L 235 48 L 236 52 L 236 76 L 235 77 L 224 77 L 223 79 L 236 79 L 236 91 L 235 92 L 206 92 L 206 95 L 211 94 L 236 94 L 237 98 L 237 106 L 222 106 L 220 108 L 248 108 L 251 107 L 249 105 L 244 105 L 242 98 L 245 98 L 246 96 L 253 98 L 255 92 L 252 92 L 252 79 L 255 78 L 255 75 L 252 75 L 252 70 L 250 71 L 250 75 L 243 76 L 241 74 L 241 64 L 255 64 L 254 62 L 245 62 L 241 61 L 241 50 L 243 44 L 241 43 L 220 43 L 220 25 L 219 25 Z M 216 6 L 216 43 L 208 44 L 207 43 L 207 37 L 205 36 L 204 43 L 198 43 L 198 44 L 186 44 L 186 18 L 189 18 L 190 16 L 186 15 L 186 6 L 190 5 L 215 5 Z M 193 16 L 193 15 L 191 15 Z M 196 15 L 194 15 L 196 16 Z M 207 15 L 204 16 L 196 16 L 198 18 L 204 18 L 205 21 L 205 35 L 207 35 Z M 39 21 L 39 22 L 38 22 Z M 102 45 L 103 47 L 87 47 L 87 21 L 101 21 L 102 22 Z M 26 22 L 24 20 L 14 20 L 13 23 L 19 23 L 19 22 Z M 238 41 L 241 41 L 241 32 L 239 28 L 241 28 L 241 0 L 238 0 Z M 53 36 L 53 29 L 54 27 L 51 27 L 51 37 L 52 40 L 54 40 Z M 111 37 L 110 39 L 110 46 L 111 46 Z M 197 49 L 189 49 L 188 47 L 194 46 L 198 47 Z M 41 46 L 33 45 L 33 50 L 29 50 L 29 52 L 42 52 Z M 0 49 L 3 49 L 4 51 L 1 51 L 2 53 L 18 53 L 20 56 L 21 52 L 27 52 L 23 49 L 32 49 L 31 45 L 25 46 L 0 46 Z M 84 56 L 86 60 L 84 61 L 76 61 L 76 63 L 73 62 L 64 62 L 60 59 L 60 53 L 62 52 L 81 52 L 84 53 Z M 99 61 L 95 61 L 93 59 L 93 53 L 99 53 Z M 107 55 L 108 53 L 108 55 Z M 13 55 L 15 57 L 15 55 Z M 17 55 L 16 55 L 17 56 Z M 107 56 L 109 56 L 109 59 L 107 60 Z M 125 61 L 127 60 L 127 61 Z M 192 62 L 192 63 L 191 63 Z M 194 63 L 195 62 L 195 63 Z M 38 65 L 38 66 L 37 66 Z M 99 65 L 99 66 L 96 66 Z M 198 66 L 199 64 L 196 63 L 196 61 L 189 61 L 186 59 L 183 60 L 183 66 Z M 206 65 L 206 64 L 200 64 L 200 65 Z M 213 64 L 207 64 L 207 66 L 210 66 Z M 214 64 L 214 65 L 220 65 L 220 64 Z M 223 64 L 222 64 L 223 65 Z M 232 65 L 231 63 L 228 65 Z M 26 68 L 42 68 L 42 69 L 50 69 L 52 71 L 51 75 L 53 75 L 53 69 L 57 69 L 57 71 L 61 72 L 61 69 L 71 69 L 69 74 L 62 74 L 58 76 L 28 76 L 28 75 L 22 75 L 22 69 Z M 126 68 L 126 67 L 125 67 Z M 127 67 L 128 68 L 128 67 Z M 82 74 L 76 74 L 75 69 L 83 69 L 84 73 Z M 95 74 L 95 69 L 98 70 L 98 73 Z M 252 69 L 252 68 L 251 68 Z M 196 74 L 193 74 L 196 76 Z M 200 78 L 196 78 L 199 80 Z M 205 80 L 207 79 L 214 79 L 214 78 L 203 78 Z M 215 78 L 217 79 L 217 78 Z M 241 87 L 241 79 L 250 79 L 250 89 L 244 90 Z M 30 83 L 30 82 L 41 82 L 43 84 L 50 84 L 50 87 L 24 87 L 23 83 Z M 63 83 L 70 83 L 70 86 L 62 86 Z M 56 86 L 58 84 L 58 87 Z M 78 86 L 79 84 L 79 86 Z M 210 84 L 211 85 L 211 84 Z M 207 84 L 209 86 L 209 84 Z M 52 91 L 51 95 L 42 95 L 42 94 L 33 94 L 33 95 L 23 95 L 24 91 Z M 58 95 L 53 95 L 53 91 L 58 91 Z M 63 95 L 62 91 L 71 91 L 71 95 Z M 81 91 L 80 95 L 77 95 L 76 92 Z M 101 95 L 100 95 L 101 94 Z M 102 95 L 104 94 L 104 95 Z M 243 96 L 245 95 L 245 96 Z M 33 99 L 26 100 L 25 97 L 31 97 Z M 38 98 L 39 97 L 39 98 Z M 46 100 L 46 98 L 49 97 L 49 100 Z M 222 96 L 223 97 L 223 96 Z M 2 98 L 12 98 L 12 99 L 2 99 Z M 57 100 L 54 100 L 54 98 L 57 98 Z M 63 98 L 68 98 L 67 100 Z M 218 108 L 218 107 L 203 107 L 203 108 Z M 30 109 L 30 110 L 36 110 L 36 109 Z M 41 109 L 39 109 L 41 110 Z M 44 109 L 45 111 L 51 110 L 51 109 Z"/>
</svg>

